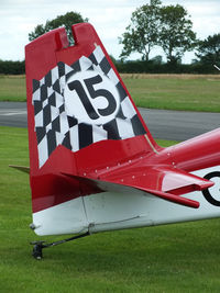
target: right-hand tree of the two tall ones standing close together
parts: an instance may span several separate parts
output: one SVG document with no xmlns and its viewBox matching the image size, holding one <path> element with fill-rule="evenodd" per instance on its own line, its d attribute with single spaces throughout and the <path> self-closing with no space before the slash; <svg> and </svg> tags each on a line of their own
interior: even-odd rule
<svg viewBox="0 0 220 293">
<path fill-rule="evenodd" d="M 196 46 L 196 34 L 187 11 L 179 4 L 162 7 L 160 10 L 160 45 L 168 63 L 177 63 L 187 50 Z"/>
</svg>

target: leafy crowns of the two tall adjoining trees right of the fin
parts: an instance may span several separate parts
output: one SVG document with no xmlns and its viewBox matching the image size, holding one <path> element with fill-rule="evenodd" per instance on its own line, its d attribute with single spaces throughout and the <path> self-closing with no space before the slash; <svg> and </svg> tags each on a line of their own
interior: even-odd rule
<svg viewBox="0 0 220 293">
<path fill-rule="evenodd" d="M 119 40 L 123 45 L 120 57 L 138 52 L 142 60 L 148 60 L 150 52 L 158 45 L 167 61 L 176 64 L 185 52 L 196 45 L 196 34 L 191 27 L 193 22 L 184 7 L 162 5 L 162 1 L 152 0 L 132 13 L 131 24 Z"/>
</svg>

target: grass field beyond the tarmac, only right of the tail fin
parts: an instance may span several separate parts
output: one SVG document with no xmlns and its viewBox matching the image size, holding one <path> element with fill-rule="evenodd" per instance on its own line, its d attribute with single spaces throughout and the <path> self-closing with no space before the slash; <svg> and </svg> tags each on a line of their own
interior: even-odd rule
<svg viewBox="0 0 220 293">
<path fill-rule="evenodd" d="M 134 102 L 150 109 L 220 112 L 220 79 L 125 78 Z"/>
</svg>

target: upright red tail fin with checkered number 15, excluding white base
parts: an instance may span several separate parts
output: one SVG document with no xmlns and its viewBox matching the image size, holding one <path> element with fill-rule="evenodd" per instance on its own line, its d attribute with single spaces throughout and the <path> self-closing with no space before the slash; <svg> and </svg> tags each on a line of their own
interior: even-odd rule
<svg viewBox="0 0 220 293">
<path fill-rule="evenodd" d="M 64 27 L 25 47 L 33 211 L 50 206 L 50 200 L 42 205 L 34 199 L 51 192 L 55 174 L 79 174 L 158 149 L 94 27 L 76 24 L 73 34 L 70 47 Z"/>
</svg>

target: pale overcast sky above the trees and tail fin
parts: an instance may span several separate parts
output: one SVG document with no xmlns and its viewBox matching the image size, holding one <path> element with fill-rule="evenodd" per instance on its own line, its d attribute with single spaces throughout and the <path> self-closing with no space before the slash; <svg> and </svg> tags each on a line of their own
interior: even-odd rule
<svg viewBox="0 0 220 293">
<path fill-rule="evenodd" d="M 118 37 L 130 23 L 131 13 L 147 0 L 0 0 L 0 59 L 23 60 L 28 35 L 37 24 L 69 11 L 79 12 L 95 26 L 109 54 L 121 53 Z M 220 0 L 163 0 L 163 4 L 182 4 L 191 15 L 197 37 L 220 33 Z M 161 54 L 152 52 L 150 57 Z M 131 56 L 138 58 L 138 55 Z M 189 63 L 193 54 L 183 61 Z"/>
</svg>

